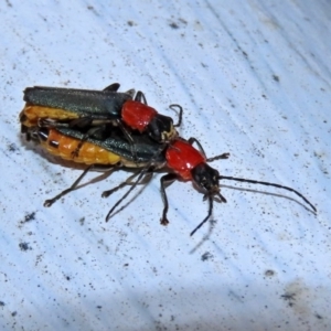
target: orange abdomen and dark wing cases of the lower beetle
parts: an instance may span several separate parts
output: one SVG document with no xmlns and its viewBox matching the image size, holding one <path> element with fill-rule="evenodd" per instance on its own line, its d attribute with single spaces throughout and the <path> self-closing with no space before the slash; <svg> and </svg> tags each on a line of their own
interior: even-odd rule
<svg viewBox="0 0 331 331">
<path fill-rule="evenodd" d="M 73 151 L 85 135 L 71 128 L 30 128 L 25 135 L 40 142 L 41 147 L 55 157 L 85 164 L 116 164 L 126 168 L 143 168 L 151 159 L 162 164 L 164 157 L 158 143 L 151 143 L 147 136 L 134 136 L 136 154 L 132 154 L 130 143 L 121 131 L 114 128 L 114 135 L 105 139 L 88 138 L 82 145 L 78 156 Z"/>
</svg>

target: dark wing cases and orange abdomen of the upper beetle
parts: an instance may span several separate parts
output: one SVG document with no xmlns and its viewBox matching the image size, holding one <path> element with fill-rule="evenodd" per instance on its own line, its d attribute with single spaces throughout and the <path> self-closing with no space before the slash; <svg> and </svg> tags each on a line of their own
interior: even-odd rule
<svg viewBox="0 0 331 331">
<path fill-rule="evenodd" d="M 26 104 L 20 114 L 21 125 L 39 126 L 42 119 L 53 120 L 53 127 L 65 122 L 71 126 L 78 118 L 89 119 L 85 120 L 88 125 L 96 120 L 115 120 L 122 105 L 135 95 L 135 89 L 119 93 L 118 87 L 117 83 L 104 90 L 28 87 L 24 90 Z"/>
</svg>

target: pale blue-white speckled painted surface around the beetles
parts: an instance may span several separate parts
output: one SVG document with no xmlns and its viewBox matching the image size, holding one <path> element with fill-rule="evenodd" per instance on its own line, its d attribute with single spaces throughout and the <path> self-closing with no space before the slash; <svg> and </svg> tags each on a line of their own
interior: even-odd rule
<svg viewBox="0 0 331 331">
<path fill-rule="evenodd" d="M 330 330 L 330 24 L 327 0 L 1 1 L 0 329 Z M 174 183 L 162 227 L 157 175 L 106 224 L 125 171 L 44 209 L 81 170 L 22 139 L 22 90 L 113 82 L 181 104 L 183 137 L 231 152 L 213 167 L 318 215 L 224 182 L 190 237 L 207 204 Z"/>
</svg>

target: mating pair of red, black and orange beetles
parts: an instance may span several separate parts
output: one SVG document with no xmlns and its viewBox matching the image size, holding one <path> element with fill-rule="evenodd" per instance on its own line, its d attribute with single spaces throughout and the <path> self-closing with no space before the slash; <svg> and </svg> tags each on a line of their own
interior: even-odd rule
<svg viewBox="0 0 331 331">
<path fill-rule="evenodd" d="M 192 181 L 209 200 L 206 217 L 191 232 L 193 235 L 207 220 L 213 211 L 213 202 L 226 202 L 220 192 L 220 180 L 234 180 L 254 184 L 271 185 L 296 193 L 316 212 L 316 207 L 298 191 L 275 183 L 220 175 L 207 162 L 227 159 L 228 153 L 207 159 L 194 138 L 184 140 L 174 129 L 180 126 L 182 108 L 178 125 L 171 118 L 158 114 L 147 106 L 145 95 L 138 92 L 117 92 L 119 84 L 111 84 L 104 90 L 83 90 L 50 87 L 32 87 L 24 92 L 26 105 L 20 115 L 22 132 L 26 138 L 40 141 L 50 153 L 63 159 L 89 164 L 75 183 L 55 197 L 45 201 L 52 205 L 66 193 L 75 190 L 85 173 L 96 166 L 137 168 L 137 172 L 119 186 L 106 191 L 108 196 L 119 188 L 131 183 L 131 188 L 109 211 L 106 221 L 115 209 L 135 189 L 141 180 L 157 169 L 168 171 L 161 178 L 163 212 L 161 224 L 169 223 L 169 209 L 166 185 L 174 180 Z M 151 110 L 152 109 L 152 110 Z M 195 149 L 192 143 L 197 143 Z"/>
</svg>

